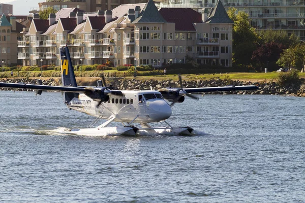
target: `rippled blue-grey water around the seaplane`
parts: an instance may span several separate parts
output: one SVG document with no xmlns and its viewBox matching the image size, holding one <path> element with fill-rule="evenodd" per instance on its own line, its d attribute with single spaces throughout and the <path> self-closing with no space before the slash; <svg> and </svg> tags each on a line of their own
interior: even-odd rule
<svg viewBox="0 0 305 203">
<path fill-rule="evenodd" d="M 85 137 L 60 93 L 0 91 L 2 202 L 305 202 L 305 98 L 205 95 L 168 120 L 203 136 Z"/>
</svg>

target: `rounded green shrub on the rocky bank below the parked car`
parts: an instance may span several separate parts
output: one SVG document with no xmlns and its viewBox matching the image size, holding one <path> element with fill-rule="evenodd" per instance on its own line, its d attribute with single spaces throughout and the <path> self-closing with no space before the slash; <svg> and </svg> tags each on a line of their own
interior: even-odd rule
<svg viewBox="0 0 305 203">
<path fill-rule="evenodd" d="M 298 85 L 300 82 L 299 71 L 296 69 L 291 69 L 286 73 L 280 73 L 277 79 L 277 83 L 281 86 L 287 85 Z"/>
</svg>

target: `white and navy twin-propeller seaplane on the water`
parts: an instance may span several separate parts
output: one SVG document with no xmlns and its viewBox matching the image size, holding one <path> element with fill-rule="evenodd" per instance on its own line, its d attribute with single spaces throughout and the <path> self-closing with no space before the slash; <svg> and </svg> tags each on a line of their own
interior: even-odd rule
<svg viewBox="0 0 305 203">
<path fill-rule="evenodd" d="M 189 126 L 171 126 L 167 119 L 172 115 L 172 106 L 183 103 L 185 97 L 198 99 L 194 93 L 256 90 L 255 85 L 183 88 L 179 75 L 180 87 L 164 87 L 153 90 L 115 90 L 107 87 L 105 78 L 97 81 L 97 86 L 77 86 L 73 65 L 68 47 L 60 48 L 62 86 L 25 83 L 0 83 L 0 87 L 13 89 L 31 89 L 36 94 L 43 91 L 62 92 L 64 103 L 69 109 L 96 117 L 95 125 L 101 120 L 106 121 L 97 127 L 68 129 L 69 134 L 95 135 L 128 135 L 140 134 L 174 134 L 192 136 L 194 129 Z M 121 126 L 111 126 L 119 122 Z M 160 124 L 162 123 L 162 124 Z M 110 125 L 110 126 L 109 126 Z"/>
</svg>

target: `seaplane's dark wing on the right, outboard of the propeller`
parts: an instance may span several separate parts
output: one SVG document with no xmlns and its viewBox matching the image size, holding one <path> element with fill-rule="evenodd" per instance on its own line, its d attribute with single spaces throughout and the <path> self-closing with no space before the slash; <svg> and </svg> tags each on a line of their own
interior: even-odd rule
<svg viewBox="0 0 305 203">
<path fill-rule="evenodd" d="M 242 90 L 257 90 L 255 85 L 245 86 L 223 86 L 223 87 L 199 87 L 199 88 L 183 88 L 187 93 L 200 93 L 200 92 L 222 92 L 222 91 L 242 91 Z"/>
</svg>

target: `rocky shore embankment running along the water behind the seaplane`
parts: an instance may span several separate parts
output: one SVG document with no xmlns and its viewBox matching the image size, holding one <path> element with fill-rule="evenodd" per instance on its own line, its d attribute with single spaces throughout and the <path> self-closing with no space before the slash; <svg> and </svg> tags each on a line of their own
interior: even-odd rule
<svg viewBox="0 0 305 203">
<path fill-rule="evenodd" d="M 96 80 L 99 78 L 90 78 L 89 80 L 84 80 L 83 78 L 77 78 L 77 83 L 80 86 L 95 86 Z M 9 83 L 26 83 L 26 84 L 36 84 L 36 79 L 3 79 L 0 82 Z M 60 85 L 61 79 L 58 78 L 48 78 L 42 80 L 43 85 Z M 124 78 L 107 78 L 108 86 L 112 85 L 114 89 L 119 90 L 132 90 L 132 89 L 159 89 L 163 87 L 178 87 L 177 81 L 157 81 L 157 80 L 137 80 L 137 79 L 124 79 Z M 257 91 L 235 91 L 235 92 L 225 92 L 225 94 L 273 94 L 273 95 L 292 95 L 305 97 L 305 85 L 301 86 L 289 86 L 280 87 L 276 82 L 245 82 L 245 81 L 232 81 L 232 80 L 221 80 L 221 79 L 210 79 L 210 80 L 192 80 L 183 81 L 183 86 L 185 88 L 194 87 L 216 87 L 216 86 L 226 86 L 226 85 L 256 85 L 259 87 Z M 11 90 L 9 88 L 1 88 L 1 90 Z M 23 91 L 20 89 L 20 91 Z M 28 90 L 32 91 L 32 90 Z M 218 94 L 223 94 L 223 92 L 216 92 Z"/>
</svg>

